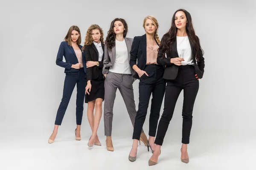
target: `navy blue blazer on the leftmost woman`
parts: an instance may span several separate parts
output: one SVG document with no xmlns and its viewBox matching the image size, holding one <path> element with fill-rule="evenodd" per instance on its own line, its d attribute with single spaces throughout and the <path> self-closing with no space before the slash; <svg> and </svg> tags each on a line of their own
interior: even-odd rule
<svg viewBox="0 0 256 170">
<path fill-rule="evenodd" d="M 78 45 L 82 52 L 82 59 L 83 59 L 83 65 L 84 65 L 84 73 L 86 73 L 86 62 L 84 58 L 84 52 L 82 51 L 82 46 Z M 66 62 L 63 61 L 63 56 L 66 60 Z M 58 50 L 57 58 L 56 58 L 56 64 L 58 66 L 64 67 L 65 71 L 64 73 L 68 72 L 77 72 L 79 69 L 71 68 L 73 64 L 77 64 L 78 59 L 76 57 L 76 53 L 72 46 L 68 45 L 66 41 L 61 42 L 61 45 Z"/>
</svg>

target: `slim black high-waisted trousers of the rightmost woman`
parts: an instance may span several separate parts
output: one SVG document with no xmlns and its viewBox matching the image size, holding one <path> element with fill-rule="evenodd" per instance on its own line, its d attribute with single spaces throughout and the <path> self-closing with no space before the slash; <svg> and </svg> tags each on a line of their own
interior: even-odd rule
<svg viewBox="0 0 256 170">
<path fill-rule="evenodd" d="M 172 119 L 175 105 L 181 90 L 184 90 L 182 143 L 189 144 L 189 136 L 192 127 L 192 112 L 198 88 L 199 81 L 195 78 L 195 67 L 193 65 L 179 66 L 177 77 L 174 80 L 167 81 L 164 109 L 158 124 L 155 144 L 163 144 L 163 139 L 166 135 L 169 122 Z"/>
</svg>

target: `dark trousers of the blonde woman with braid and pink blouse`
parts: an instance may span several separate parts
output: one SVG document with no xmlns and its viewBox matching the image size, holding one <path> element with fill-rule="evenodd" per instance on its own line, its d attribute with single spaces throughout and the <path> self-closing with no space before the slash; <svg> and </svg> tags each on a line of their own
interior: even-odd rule
<svg viewBox="0 0 256 170">
<path fill-rule="evenodd" d="M 166 80 L 163 79 L 164 68 L 160 65 L 146 65 L 139 83 L 139 109 L 137 111 L 134 123 L 134 133 L 132 139 L 140 140 L 140 133 L 145 122 L 148 110 L 148 103 L 152 94 L 151 111 L 149 117 L 149 136 L 155 136 L 157 132 L 157 122 L 160 115 L 160 109 L 163 102 L 163 96 L 166 88 Z"/>
</svg>

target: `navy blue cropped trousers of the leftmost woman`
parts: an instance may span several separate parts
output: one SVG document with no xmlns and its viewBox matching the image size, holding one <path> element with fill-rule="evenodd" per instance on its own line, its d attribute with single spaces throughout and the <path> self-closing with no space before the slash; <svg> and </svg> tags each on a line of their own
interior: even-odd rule
<svg viewBox="0 0 256 170">
<path fill-rule="evenodd" d="M 84 68 L 80 68 L 78 72 L 66 73 L 63 96 L 61 99 L 61 104 L 59 105 L 55 125 L 61 125 L 64 114 L 67 110 L 67 105 L 70 101 L 72 92 L 77 88 L 76 94 L 76 125 L 81 125 L 82 116 L 84 111 L 84 94 L 85 94 L 85 73 Z"/>
</svg>

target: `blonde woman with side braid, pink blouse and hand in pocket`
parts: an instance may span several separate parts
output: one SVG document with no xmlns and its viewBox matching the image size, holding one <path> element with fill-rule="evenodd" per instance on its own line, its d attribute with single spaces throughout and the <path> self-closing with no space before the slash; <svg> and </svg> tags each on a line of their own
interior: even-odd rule
<svg viewBox="0 0 256 170">
<path fill-rule="evenodd" d="M 131 46 L 130 65 L 136 71 L 134 78 L 140 79 L 139 83 L 139 108 L 135 117 L 133 145 L 129 154 L 129 160 L 135 161 L 137 156 L 138 141 L 145 122 L 148 103 L 152 94 L 151 111 L 149 117 L 148 151 L 154 153 L 154 137 L 157 131 L 157 122 L 163 102 L 166 81 L 163 79 L 164 67 L 157 64 L 157 50 L 160 40 L 157 35 L 159 25 L 153 16 L 145 17 L 143 28 L 146 34 L 134 37 Z"/>
</svg>

